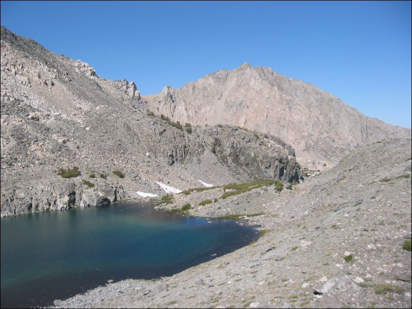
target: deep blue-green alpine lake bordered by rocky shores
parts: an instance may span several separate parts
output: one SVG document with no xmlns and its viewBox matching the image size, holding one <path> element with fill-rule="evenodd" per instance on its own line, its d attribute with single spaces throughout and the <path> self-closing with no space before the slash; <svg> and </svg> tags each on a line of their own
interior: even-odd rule
<svg viewBox="0 0 412 309">
<path fill-rule="evenodd" d="M 1 307 L 50 305 L 110 279 L 171 276 L 258 235 L 233 220 L 136 203 L 2 218 Z"/>
</svg>

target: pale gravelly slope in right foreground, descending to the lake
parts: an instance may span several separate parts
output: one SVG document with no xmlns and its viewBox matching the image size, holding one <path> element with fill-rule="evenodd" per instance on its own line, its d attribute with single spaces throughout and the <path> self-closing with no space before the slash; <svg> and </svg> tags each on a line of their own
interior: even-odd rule
<svg viewBox="0 0 412 309">
<path fill-rule="evenodd" d="M 55 304 L 410 307 L 410 174 L 410 139 L 361 147 L 293 190 L 279 195 L 269 187 L 249 196 L 252 211 L 255 206 L 265 209 L 264 215 L 246 220 L 265 231 L 256 243 L 172 277 L 121 281 Z M 217 211 L 221 204 L 209 205 Z M 405 241 L 409 251 L 403 248 Z"/>
</svg>

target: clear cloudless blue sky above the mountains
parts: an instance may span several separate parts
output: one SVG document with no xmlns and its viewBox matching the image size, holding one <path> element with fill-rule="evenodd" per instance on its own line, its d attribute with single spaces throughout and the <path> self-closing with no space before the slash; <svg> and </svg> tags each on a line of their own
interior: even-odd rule
<svg viewBox="0 0 412 309">
<path fill-rule="evenodd" d="M 1 2 L 1 24 L 142 94 L 244 62 L 411 127 L 411 2 Z"/>
</svg>

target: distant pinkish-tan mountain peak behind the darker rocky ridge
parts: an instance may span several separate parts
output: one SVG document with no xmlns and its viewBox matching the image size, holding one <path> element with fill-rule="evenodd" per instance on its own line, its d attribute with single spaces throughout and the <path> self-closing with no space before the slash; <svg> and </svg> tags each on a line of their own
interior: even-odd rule
<svg viewBox="0 0 412 309">
<path fill-rule="evenodd" d="M 179 89 L 166 86 L 143 99 L 154 113 L 181 123 L 231 124 L 271 133 L 289 143 L 298 162 L 311 169 L 329 168 L 358 146 L 411 136 L 410 129 L 366 117 L 314 85 L 248 63 Z"/>
</svg>

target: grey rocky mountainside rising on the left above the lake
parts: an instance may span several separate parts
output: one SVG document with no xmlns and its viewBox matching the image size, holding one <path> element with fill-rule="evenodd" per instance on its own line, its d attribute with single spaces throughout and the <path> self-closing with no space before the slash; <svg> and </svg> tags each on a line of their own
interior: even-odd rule
<svg viewBox="0 0 412 309">
<path fill-rule="evenodd" d="M 198 179 L 301 177 L 293 149 L 278 138 L 148 115 L 135 83 L 107 81 L 4 27 L 0 83 L 2 217 L 107 204 L 136 191 L 163 195 L 154 181 L 183 190 Z M 81 175 L 58 175 L 74 166 Z"/>
</svg>

